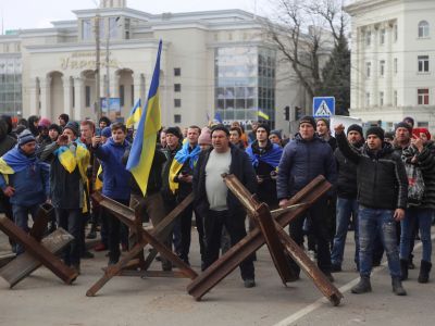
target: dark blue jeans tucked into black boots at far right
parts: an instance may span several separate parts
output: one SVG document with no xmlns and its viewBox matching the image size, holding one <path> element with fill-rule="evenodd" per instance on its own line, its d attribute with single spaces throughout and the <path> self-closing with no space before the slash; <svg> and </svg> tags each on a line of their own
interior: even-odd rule
<svg viewBox="0 0 435 326">
<path fill-rule="evenodd" d="M 401 221 L 400 237 L 400 259 L 408 260 L 411 250 L 411 241 L 413 241 L 413 228 L 419 223 L 420 239 L 423 244 L 422 260 L 431 262 L 432 239 L 431 239 L 431 222 L 433 210 L 410 208 L 406 211 L 405 218 Z"/>
</svg>

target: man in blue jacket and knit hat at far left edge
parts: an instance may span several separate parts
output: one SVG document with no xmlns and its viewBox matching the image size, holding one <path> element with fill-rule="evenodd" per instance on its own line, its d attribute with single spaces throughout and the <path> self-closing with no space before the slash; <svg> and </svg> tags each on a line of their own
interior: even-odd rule
<svg viewBox="0 0 435 326">
<path fill-rule="evenodd" d="M 15 224 L 28 231 L 28 214 L 36 217 L 39 205 L 49 196 L 50 166 L 35 154 L 36 139 L 27 129 L 18 136 L 18 143 L 0 159 L 0 187 L 11 199 Z M 23 253 L 16 244 L 16 253 Z"/>
</svg>

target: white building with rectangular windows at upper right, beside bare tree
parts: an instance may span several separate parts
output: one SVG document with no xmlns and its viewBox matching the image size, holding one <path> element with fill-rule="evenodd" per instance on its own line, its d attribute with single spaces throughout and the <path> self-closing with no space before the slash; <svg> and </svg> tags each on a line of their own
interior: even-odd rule
<svg viewBox="0 0 435 326">
<path fill-rule="evenodd" d="M 405 116 L 435 129 L 435 1 L 363 0 L 351 15 L 351 108 L 386 129 Z"/>
</svg>

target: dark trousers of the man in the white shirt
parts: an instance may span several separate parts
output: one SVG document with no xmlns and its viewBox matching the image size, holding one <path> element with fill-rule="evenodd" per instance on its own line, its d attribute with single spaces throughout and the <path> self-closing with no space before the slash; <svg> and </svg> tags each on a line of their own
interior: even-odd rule
<svg viewBox="0 0 435 326">
<path fill-rule="evenodd" d="M 245 213 L 243 211 L 232 214 L 229 211 L 209 210 L 203 218 L 203 226 L 206 240 L 204 269 L 219 259 L 223 226 L 229 234 L 232 246 L 246 237 Z M 252 256 L 243 261 L 239 267 L 243 279 L 254 278 Z"/>
</svg>

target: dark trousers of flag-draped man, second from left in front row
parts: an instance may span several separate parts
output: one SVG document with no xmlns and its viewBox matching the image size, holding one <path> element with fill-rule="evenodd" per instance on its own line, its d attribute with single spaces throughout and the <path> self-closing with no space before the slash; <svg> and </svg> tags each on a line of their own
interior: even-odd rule
<svg viewBox="0 0 435 326">
<path fill-rule="evenodd" d="M 64 228 L 74 237 L 62 253 L 66 265 L 80 264 L 82 209 L 55 209 L 59 227 Z"/>
</svg>

